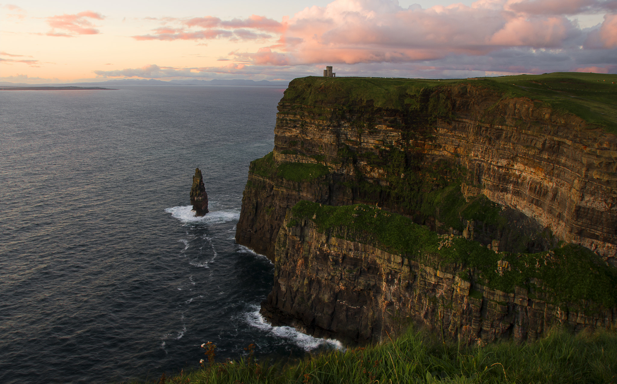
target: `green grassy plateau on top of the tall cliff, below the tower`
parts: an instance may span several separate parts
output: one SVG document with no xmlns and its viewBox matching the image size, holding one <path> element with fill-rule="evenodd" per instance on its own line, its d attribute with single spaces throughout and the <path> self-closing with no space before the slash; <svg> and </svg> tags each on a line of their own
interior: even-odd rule
<svg viewBox="0 0 617 384">
<path fill-rule="evenodd" d="M 307 106 L 363 104 L 384 109 L 413 110 L 433 91 L 475 85 L 501 98 L 529 98 L 557 112 L 617 133 L 617 75 L 554 72 L 470 79 L 410 79 L 375 77 L 304 77 L 289 83 L 283 102 Z"/>
</svg>

